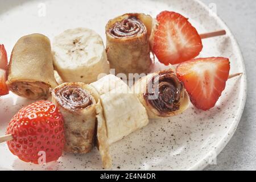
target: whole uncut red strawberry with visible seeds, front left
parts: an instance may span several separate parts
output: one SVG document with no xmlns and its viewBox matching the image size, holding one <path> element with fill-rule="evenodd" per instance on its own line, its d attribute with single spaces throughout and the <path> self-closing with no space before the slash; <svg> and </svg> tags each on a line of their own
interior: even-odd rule
<svg viewBox="0 0 256 182">
<path fill-rule="evenodd" d="M 38 101 L 20 109 L 7 128 L 13 135 L 10 151 L 24 162 L 38 164 L 40 152 L 46 162 L 59 159 L 64 149 L 64 122 L 59 109 L 49 101 Z"/>
</svg>

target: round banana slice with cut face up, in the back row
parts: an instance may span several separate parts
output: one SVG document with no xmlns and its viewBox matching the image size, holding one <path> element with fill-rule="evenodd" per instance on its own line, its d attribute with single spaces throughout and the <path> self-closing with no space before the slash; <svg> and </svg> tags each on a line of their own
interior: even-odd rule
<svg viewBox="0 0 256 182">
<path fill-rule="evenodd" d="M 64 31 L 53 40 L 53 64 L 64 82 L 97 81 L 109 74 L 108 58 L 100 35 L 88 28 Z"/>
</svg>

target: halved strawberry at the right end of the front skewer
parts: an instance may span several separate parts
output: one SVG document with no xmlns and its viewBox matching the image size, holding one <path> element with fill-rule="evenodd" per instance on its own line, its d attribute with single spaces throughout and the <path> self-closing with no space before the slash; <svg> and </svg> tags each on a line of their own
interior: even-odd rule
<svg viewBox="0 0 256 182">
<path fill-rule="evenodd" d="M 209 57 L 181 63 L 177 76 L 184 82 L 192 104 L 198 109 L 209 110 L 225 89 L 229 71 L 228 58 Z"/>
</svg>

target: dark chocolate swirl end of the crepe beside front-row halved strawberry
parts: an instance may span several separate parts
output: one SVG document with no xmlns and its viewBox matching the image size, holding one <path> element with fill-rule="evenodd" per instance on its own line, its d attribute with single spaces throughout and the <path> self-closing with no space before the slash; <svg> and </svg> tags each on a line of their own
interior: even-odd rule
<svg viewBox="0 0 256 182">
<path fill-rule="evenodd" d="M 147 93 L 144 94 L 147 103 L 159 113 L 179 110 L 183 97 L 183 84 L 170 71 L 159 72 L 159 75 L 152 77 L 147 85 Z"/>
</svg>

